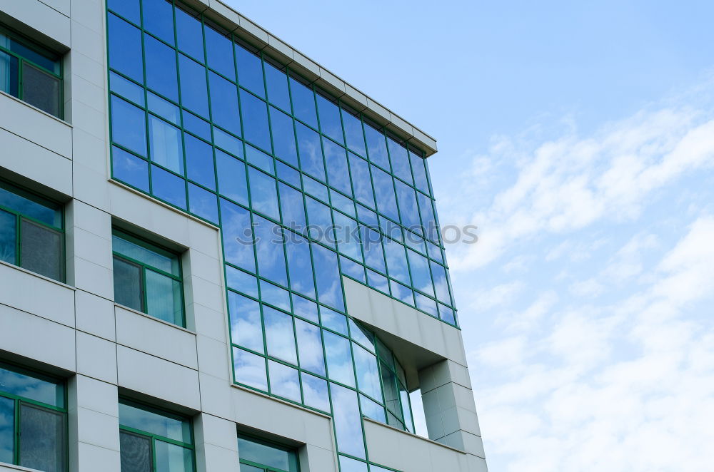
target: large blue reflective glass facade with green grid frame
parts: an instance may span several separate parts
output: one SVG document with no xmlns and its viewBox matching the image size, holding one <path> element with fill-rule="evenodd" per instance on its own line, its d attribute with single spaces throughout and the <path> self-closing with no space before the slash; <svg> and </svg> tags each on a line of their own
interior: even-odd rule
<svg viewBox="0 0 714 472">
<path fill-rule="evenodd" d="M 112 178 L 220 228 L 236 383 L 366 471 L 362 417 L 413 420 L 342 277 L 457 325 L 426 158 L 178 1 L 107 4 Z"/>
</svg>

